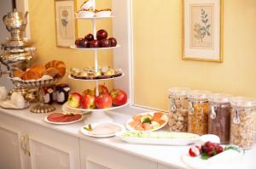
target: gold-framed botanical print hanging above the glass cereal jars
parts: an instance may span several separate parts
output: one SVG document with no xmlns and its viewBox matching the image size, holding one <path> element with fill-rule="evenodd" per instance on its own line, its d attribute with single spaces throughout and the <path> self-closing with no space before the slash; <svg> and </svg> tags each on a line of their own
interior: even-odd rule
<svg viewBox="0 0 256 169">
<path fill-rule="evenodd" d="M 223 0 L 183 0 L 183 59 L 223 61 Z"/>
</svg>

